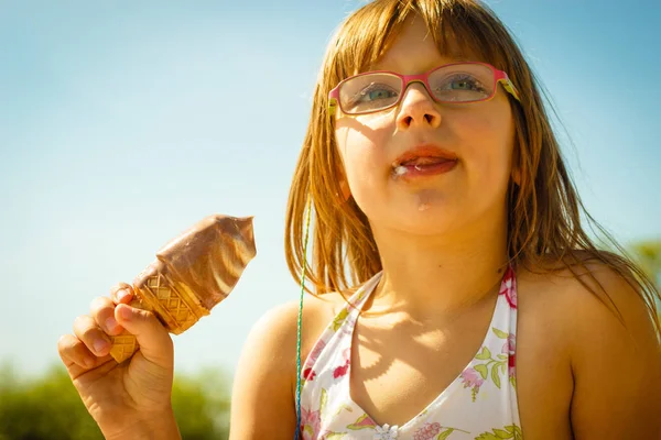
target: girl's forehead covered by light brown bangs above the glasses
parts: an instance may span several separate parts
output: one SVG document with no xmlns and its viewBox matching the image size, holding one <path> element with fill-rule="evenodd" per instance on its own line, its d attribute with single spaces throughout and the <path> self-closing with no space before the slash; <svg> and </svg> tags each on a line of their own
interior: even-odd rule
<svg viewBox="0 0 661 440">
<path fill-rule="evenodd" d="M 329 89 L 350 76 L 373 70 L 412 75 L 462 61 L 505 69 L 507 44 L 501 44 L 498 23 L 480 8 L 463 2 L 447 8 L 436 0 L 430 0 L 434 1 L 430 8 L 383 7 L 412 1 L 375 1 L 368 3 L 373 8 L 365 7 L 347 19 L 327 58 Z"/>
</svg>

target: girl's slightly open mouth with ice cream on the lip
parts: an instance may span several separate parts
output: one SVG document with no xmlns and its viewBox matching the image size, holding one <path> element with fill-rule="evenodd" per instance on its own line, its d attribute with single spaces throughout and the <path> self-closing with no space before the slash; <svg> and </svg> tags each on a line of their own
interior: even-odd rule
<svg viewBox="0 0 661 440">
<path fill-rule="evenodd" d="M 392 169 L 397 176 L 438 174 L 453 169 L 457 161 L 456 154 L 436 145 L 424 144 L 400 155 L 392 163 Z"/>
</svg>

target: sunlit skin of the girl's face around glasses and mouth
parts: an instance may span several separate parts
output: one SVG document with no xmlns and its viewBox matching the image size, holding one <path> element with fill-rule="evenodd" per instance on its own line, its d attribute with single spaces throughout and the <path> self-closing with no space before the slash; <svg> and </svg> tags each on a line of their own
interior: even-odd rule
<svg viewBox="0 0 661 440">
<path fill-rule="evenodd" d="M 465 58 L 442 56 L 424 23 L 414 18 L 377 67 L 412 75 L 480 61 Z M 351 195 L 375 233 L 456 233 L 505 215 L 514 128 L 500 87 L 489 101 L 440 105 L 414 82 L 394 108 L 356 117 L 339 113 L 335 134 Z M 397 168 L 402 154 L 423 144 L 455 156 L 455 166 L 413 177 Z M 416 161 L 426 169 L 424 160 Z"/>
</svg>

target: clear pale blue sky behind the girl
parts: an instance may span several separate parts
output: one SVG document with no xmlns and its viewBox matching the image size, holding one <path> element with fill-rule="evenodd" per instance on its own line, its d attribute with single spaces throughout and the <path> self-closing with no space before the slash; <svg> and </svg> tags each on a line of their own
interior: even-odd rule
<svg viewBox="0 0 661 440">
<path fill-rule="evenodd" d="M 95 297 L 225 213 L 254 216 L 257 257 L 174 341 L 176 371 L 231 372 L 297 298 L 289 185 L 325 47 L 362 3 L 0 0 L 0 362 L 58 362 Z M 487 4 L 551 96 L 588 211 L 624 244 L 661 238 L 661 3 Z"/>
</svg>

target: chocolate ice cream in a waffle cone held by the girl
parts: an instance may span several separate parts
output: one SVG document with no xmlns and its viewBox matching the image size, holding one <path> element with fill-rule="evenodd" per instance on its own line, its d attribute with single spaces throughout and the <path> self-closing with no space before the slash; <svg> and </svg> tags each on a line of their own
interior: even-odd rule
<svg viewBox="0 0 661 440">
<path fill-rule="evenodd" d="M 156 253 L 158 260 L 134 279 L 130 305 L 152 311 L 180 334 L 229 295 L 256 253 L 252 218 L 209 216 Z M 110 338 L 117 362 L 139 348 L 128 332 Z"/>
</svg>

